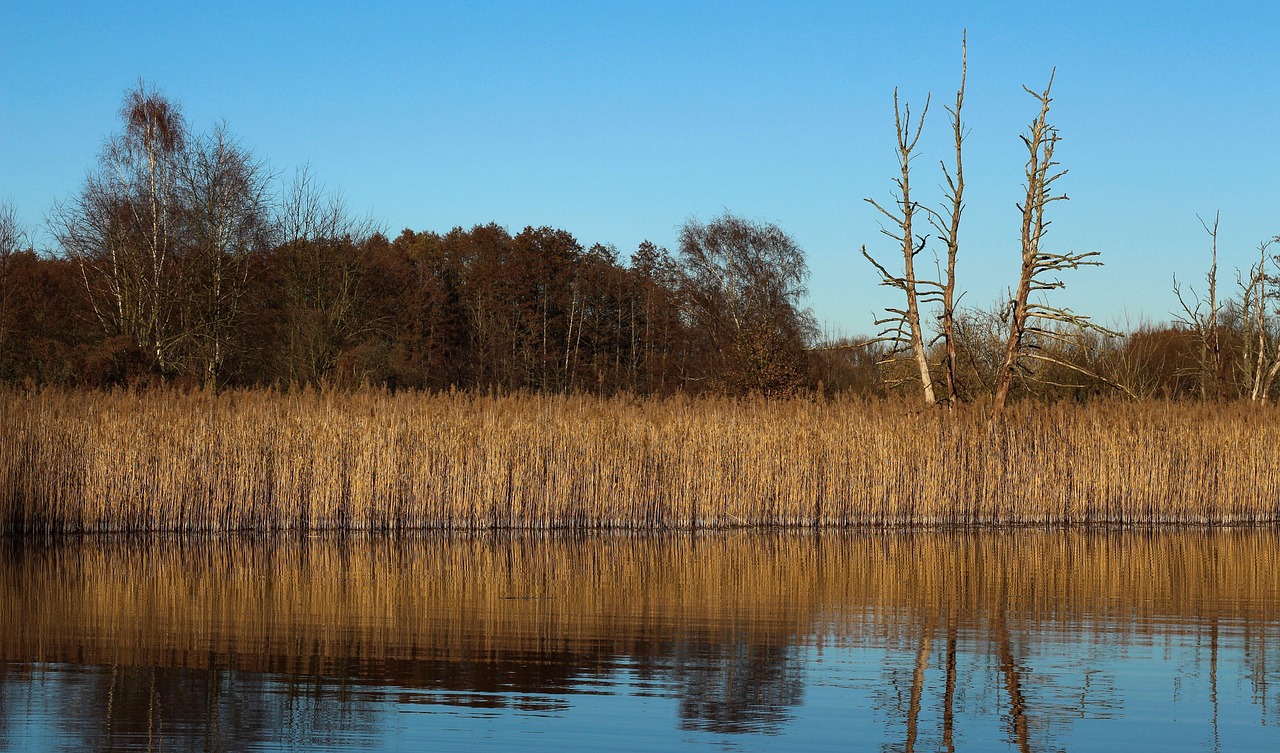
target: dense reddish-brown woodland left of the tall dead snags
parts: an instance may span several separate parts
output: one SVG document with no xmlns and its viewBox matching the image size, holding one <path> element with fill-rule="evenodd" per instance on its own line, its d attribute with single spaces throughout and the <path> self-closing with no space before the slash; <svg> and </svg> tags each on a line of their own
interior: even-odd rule
<svg viewBox="0 0 1280 753">
<path fill-rule="evenodd" d="M 785 393 L 809 380 L 804 254 L 774 225 L 687 222 L 627 259 L 497 224 L 396 238 L 306 169 L 140 85 L 36 254 L 0 213 L 0 379 Z"/>
</svg>

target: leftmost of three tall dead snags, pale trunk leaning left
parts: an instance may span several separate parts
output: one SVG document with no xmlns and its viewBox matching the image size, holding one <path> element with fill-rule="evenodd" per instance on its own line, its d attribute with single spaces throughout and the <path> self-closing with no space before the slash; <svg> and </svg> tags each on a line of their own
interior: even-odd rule
<svg viewBox="0 0 1280 753">
<path fill-rule="evenodd" d="M 915 213 L 922 207 L 911 200 L 911 156 L 916 142 L 920 141 L 920 132 L 924 129 L 924 117 L 928 111 L 929 99 L 925 97 L 924 110 L 920 113 L 913 133 L 911 106 L 900 106 L 897 88 L 893 90 L 893 129 L 897 136 L 897 163 L 901 170 L 901 174 L 893 179 L 893 184 L 897 186 L 897 195 L 893 200 L 896 211 L 884 209 L 874 198 L 867 198 L 868 204 L 878 209 L 892 223 L 892 227 L 882 227 L 881 232 L 901 245 L 902 274 L 895 275 L 884 265 L 876 261 L 867 252 L 867 246 L 863 246 L 863 256 L 876 266 L 876 270 L 881 275 L 882 286 L 897 288 L 906 296 L 904 309 L 886 309 L 891 316 L 876 320 L 876 325 L 884 327 L 884 329 L 870 342 L 892 343 L 892 348 L 888 356 L 886 356 L 884 362 L 899 360 L 905 351 L 910 351 L 920 371 L 920 388 L 924 392 L 924 402 L 933 405 L 937 402 L 937 398 L 933 394 L 933 378 L 929 375 L 929 359 L 924 351 L 924 332 L 920 328 L 920 300 L 927 293 L 922 295 L 920 288 L 932 288 L 931 292 L 937 295 L 936 288 L 938 286 L 937 283 L 922 282 L 915 278 L 915 256 L 924 250 L 928 237 L 925 236 L 919 241 L 915 238 Z"/>
</svg>

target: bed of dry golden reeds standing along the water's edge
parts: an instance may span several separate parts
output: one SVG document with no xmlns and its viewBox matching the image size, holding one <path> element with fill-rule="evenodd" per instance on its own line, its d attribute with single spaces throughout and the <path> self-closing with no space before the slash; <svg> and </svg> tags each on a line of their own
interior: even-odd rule
<svg viewBox="0 0 1280 753">
<path fill-rule="evenodd" d="M 1244 405 L 0 391 L 9 531 L 1277 517 Z"/>
</svg>

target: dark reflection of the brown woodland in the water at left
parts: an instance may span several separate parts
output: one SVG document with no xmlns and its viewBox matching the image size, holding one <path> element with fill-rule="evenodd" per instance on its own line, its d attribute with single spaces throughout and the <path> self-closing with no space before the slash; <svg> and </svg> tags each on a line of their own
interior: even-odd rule
<svg viewBox="0 0 1280 753">
<path fill-rule="evenodd" d="M 780 731 L 803 697 L 803 670 L 794 652 L 745 638 L 728 643 L 718 638 L 652 644 L 660 656 L 634 657 L 632 666 L 673 686 L 682 729 Z M 563 712 L 582 675 L 608 675 L 617 668 L 616 660 L 557 652 L 474 661 L 325 660 L 312 663 L 319 674 L 301 672 L 297 666 L 289 674 L 264 674 L 46 665 L 22 676 L 0 672 L 0 699 L 15 690 L 55 698 L 61 707 L 55 715 L 63 720 L 61 734 L 86 750 L 247 750 L 280 741 L 340 745 L 375 734 L 372 712 L 387 700 Z M 234 663 L 236 657 L 228 661 Z M 8 667 L 0 663 L 0 670 Z"/>
</svg>

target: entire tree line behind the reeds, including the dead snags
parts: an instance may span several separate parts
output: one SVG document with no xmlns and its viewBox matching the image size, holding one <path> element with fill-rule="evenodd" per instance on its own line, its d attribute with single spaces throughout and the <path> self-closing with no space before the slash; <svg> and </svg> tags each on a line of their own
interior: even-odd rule
<svg viewBox="0 0 1280 753">
<path fill-rule="evenodd" d="M 895 92 L 901 168 L 888 220 L 901 270 L 864 248 L 904 293 L 873 337 L 820 342 L 804 309 L 803 250 L 769 223 L 690 219 L 675 252 L 623 254 L 571 233 L 497 224 L 390 238 L 307 169 L 282 182 L 225 124 L 193 132 L 180 106 L 129 91 L 119 131 L 81 190 L 49 213 L 36 252 L 0 205 L 0 380 L 18 384 L 383 385 L 535 392 L 916 392 L 927 403 L 991 396 L 1267 400 L 1280 373 L 1270 242 L 1217 289 L 1216 223 L 1203 300 L 1176 289 L 1171 323 L 1119 334 L 1044 295 L 1093 254 L 1041 246 L 1057 131 L 1052 78 L 1028 149 L 1023 273 L 1010 300 L 961 307 L 964 76 L 952 106 L 946 205 L 910 195 L 913 120 Z M 940 278 L 916 271 L 928 224 L 946 246 Z M 1037 296 L 1039 296 L 1037 298 Z M 914 387 L 913 387 L 914 385 Z M 941 387 L 936 387 L 941 385 Z"/>
</svg>

